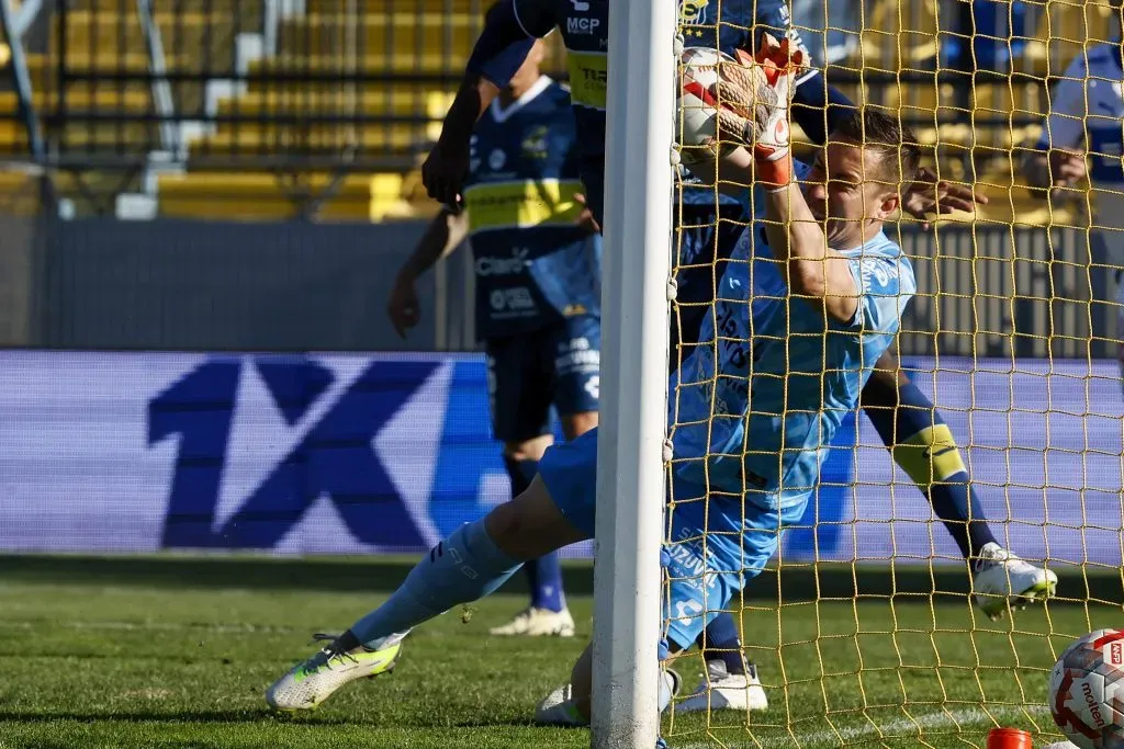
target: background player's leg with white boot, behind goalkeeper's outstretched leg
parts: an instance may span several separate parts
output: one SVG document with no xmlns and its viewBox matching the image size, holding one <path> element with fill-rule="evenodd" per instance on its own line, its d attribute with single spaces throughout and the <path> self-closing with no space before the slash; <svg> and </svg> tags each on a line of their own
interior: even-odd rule
<svg viewBox="0 0 1124 749">
<path fill-rule="evenodd" d="M 491 347 L 489 384 L 492 429 L 504 440 L 504 464 L 511 493 L 523 492 L 538 471 L 538 460 L 553 441 L 551 402 L 554 399 L 554 346 L 560 326 L 551 326 Z M 596 424 L 595 424 L 596 426 Z M 570 436 L 568 436 L 570 439 Z M 531 601 L 511 621 L 493 627 L 495 636 L 573 637 L 573 618 L 565 605 L 562 567 L 556 552 L 523 566 Z"/>
</svg>

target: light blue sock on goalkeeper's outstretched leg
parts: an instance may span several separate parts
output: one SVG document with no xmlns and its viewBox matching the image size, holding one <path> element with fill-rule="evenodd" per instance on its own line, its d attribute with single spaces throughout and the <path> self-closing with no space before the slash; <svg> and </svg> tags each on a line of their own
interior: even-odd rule
<svg viewBox="0 0 1124 749">
<path fill-rule="evenodd" d="M 351 628 L 360 642 L 407 632 L 459 603 L 491 595 L 523 565 L 496 546 L 484 521 L 461 526 L 433 547 L 381 606 Z"/>
</svg>

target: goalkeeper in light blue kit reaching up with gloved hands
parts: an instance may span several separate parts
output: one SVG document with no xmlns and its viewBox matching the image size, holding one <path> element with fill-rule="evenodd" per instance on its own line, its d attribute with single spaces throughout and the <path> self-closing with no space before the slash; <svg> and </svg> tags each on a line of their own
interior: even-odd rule
<svg viewBox="0 0 1124 749">
<path fill-rule="evenodd" d="M 695 642 L 764 568 L 785 526 L 804 515 L 832 436 L 858 408 L 914 293 L 908 259 L 882 232 L 900 204 L 898 185 L 917 166 L 914 138 L 873 111 L 841 117 L 801 190 L 787 135 L 799 60 L 767 37 L 724 91 L 727 100 L 774 102 L 753 120 L 745 108 L 725 112 L 727 137 L 752 155 L 738 148 L 720 165 L 724 179 L 764 188 L 769 246 L 740 245 L 746 262 L 729 264 L 716 301 L 723 340 L 699 347 L 672 376 L 679 395 L 669 421 L 692 426 L 672 433 L 681 467 L 671 532 L 707 538 L 705 549 L 677 544 L 665 560 L 672 650 Z M 489 595 L 526 560 L 592 537 L 596 456 L 596 429 L 552 447 L 523 494 L 434 547 L 383 605 L 278 679 L 269 703 L 316 706 L 384 668 L 414 627 Z M 556 710 L 588 719 L 590 682 L 587 649 Z"/>
</svg>

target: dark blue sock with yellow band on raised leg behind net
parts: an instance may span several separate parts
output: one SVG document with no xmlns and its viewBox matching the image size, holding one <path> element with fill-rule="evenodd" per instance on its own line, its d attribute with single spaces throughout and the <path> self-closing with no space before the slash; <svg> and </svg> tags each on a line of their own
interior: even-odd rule
<svg viewBox="0 0 1124 749">
<path fill-rule="evenodd" d="M 952 430 L 915 384 L 872 376 L 862 391 L 862 408 L 894 460 L 928 497 L 964 558 L 995 541 L 984 506 L 972 490 L 968 468 Z"/>
</svg>

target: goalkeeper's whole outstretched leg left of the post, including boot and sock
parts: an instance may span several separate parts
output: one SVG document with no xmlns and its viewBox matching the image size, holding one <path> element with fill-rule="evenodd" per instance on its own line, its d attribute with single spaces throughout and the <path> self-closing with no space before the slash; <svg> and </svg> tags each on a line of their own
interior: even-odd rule
<svg viewBox="0 0 1124 749">
<path fill-rule="evenodd" d="M 344 684 L 388 670 L 414 627 L 491 594 L 527 559 L 591 538 L 596 484 L 595 429 L 547 451 L 527 491 L 430 549 L 386 603 L 278 679 L 266 701 L 317 706 Z"/>
</svg>

